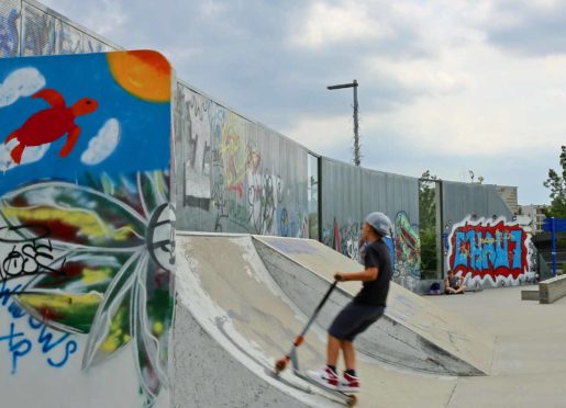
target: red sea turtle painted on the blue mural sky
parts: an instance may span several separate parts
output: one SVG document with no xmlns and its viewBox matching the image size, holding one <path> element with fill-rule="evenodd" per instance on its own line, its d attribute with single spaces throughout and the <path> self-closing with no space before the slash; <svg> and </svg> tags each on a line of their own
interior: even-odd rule
<svg viewBox="0 0 566 408">
<path fill-rule="evenodd" d="M 7 137 L 4 144 L 14 138 L 20 143 L 10 152 L 12 160 L 20 163 L 23 150 L 27 146 L 45 145 L 68 134 L 67 143 L 59 151 L 60 157 L 66 157 L 80 135 L 80 127 L 75 124 L 75 118 L 95 112 L 98 102 L 90 98 L 82 98 L 67 107 L 63 95 L 54 89 L 43 89 L 32 98 L 44 99 L 51 107 L 34 113 L 20 128 Z"/>
</svg>

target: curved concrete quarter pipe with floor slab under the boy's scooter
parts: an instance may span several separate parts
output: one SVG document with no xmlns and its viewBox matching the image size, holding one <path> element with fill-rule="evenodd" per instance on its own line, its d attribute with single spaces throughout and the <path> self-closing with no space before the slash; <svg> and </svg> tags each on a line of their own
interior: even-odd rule
<svg viewBox="0 0 566 408">
<path fill-rule="evenodd" d="M 276 359 L 307 321 L 262 262 L 249 236 L 177 236 L 176 406 L 333 407 L 336 397 L 309 386 Z M 324 364 L 324 329 L 300 348 L 303 369 Z M 456 378 L 410 374 L 359 355 L 360 407 L 446 406 Z M 442 379 L 442 381 L 439 381 Z"/>
</svg>

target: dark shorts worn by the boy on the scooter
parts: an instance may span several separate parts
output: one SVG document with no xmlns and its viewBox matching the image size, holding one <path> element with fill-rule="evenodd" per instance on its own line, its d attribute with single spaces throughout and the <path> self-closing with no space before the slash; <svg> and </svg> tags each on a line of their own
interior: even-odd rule
<svg viewBox="0 0 566 408">
<path fill-rule="evenodd" d="M 329 335 L 339 340 L 354 341 L 357 335 L 377 321 L 385 311 L 382 306 L 368 306 L 351 302 L 336 316 Z"/>
</svg>

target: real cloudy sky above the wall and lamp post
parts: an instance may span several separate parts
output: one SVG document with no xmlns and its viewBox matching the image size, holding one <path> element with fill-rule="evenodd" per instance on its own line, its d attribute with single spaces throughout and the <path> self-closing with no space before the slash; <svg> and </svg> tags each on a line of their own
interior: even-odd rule
<svg viewBox="0 0 566 408">
<path fill-rule="evenodd" d="M 566 1 L 43 0 L 127 48 L 155 48 L 214 99 L 363 166 L 542 185 L 566 144 Z"/>
</svg>

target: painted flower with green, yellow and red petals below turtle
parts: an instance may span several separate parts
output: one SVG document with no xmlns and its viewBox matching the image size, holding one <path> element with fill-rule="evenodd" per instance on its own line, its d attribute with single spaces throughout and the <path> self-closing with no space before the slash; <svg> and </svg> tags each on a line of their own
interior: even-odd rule
<svg viewBox="0 0 566 408">
<path fill-rule="evenodd" d="M 26 241 L 53 247 L 52 262 L 16 295 L 33 317 L 88 335 L 82 367 L 126 344 L 137 361 L 145 406 L 168 386 L 175 264 L 168 177 L 138 173 L 98 185 L 34 183 L 5 194 L 0 215 Z M 44 257 L 45 258 L 45 257 Z"/>
</svg>

